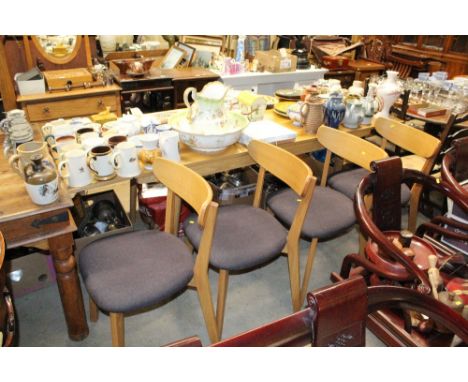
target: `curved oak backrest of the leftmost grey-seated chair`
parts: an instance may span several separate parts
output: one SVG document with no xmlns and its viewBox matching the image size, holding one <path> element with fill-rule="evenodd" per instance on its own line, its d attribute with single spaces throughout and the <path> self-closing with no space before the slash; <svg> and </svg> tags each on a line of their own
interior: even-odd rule
<svg viewBox="0 0 468 382">
<path fill-rule="evenodd" d="M 155 159 L 153 173 L 170 191 L 193 207 L 198 214 L 198 223 L 203 227 L 206 209 L 213 200 L 213 191 L 207 181 L 188 167 L 164 158 Z"/>
</svg>

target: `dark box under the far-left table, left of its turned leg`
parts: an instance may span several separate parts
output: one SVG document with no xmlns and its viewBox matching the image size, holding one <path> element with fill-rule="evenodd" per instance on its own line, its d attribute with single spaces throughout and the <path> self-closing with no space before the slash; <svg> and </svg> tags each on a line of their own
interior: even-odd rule
<svg viewBox="0 0 468 382">
<path fill-rule="evenodd" d="M 5 272 L 14 297 L 48 287 L 55 284 L 56 280 L 52 256 L 39 252 L 6 260 Z"/>
</svg>

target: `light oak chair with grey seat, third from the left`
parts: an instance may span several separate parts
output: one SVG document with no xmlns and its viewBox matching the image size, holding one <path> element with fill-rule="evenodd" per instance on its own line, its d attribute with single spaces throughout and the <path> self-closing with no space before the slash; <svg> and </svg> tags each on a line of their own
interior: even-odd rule
<svg viewBox="0 0 468 382">
<path fill-rule="evenodd" d="M 301 237 L 311 242 L 302 276 L 301 303 L 307 293 L 318 242 L 347 232 L 356 222 L 352 199 L 327 187 L 332 153 L 363 167 L 366 171 L 370 169 L 373 160 L 388 156 L 381 148 L 364 139 L 324 125 L 319 127 L 317 139 L 327 151 L 320 186 L 315 188 L 314 198 L 301 231 Z M 283 224 L 291 226 L 297 200 L 297 194 L 291 189 L 286 189 L 272 196 L 268 200 L 268 207 Z"/>
</svg>

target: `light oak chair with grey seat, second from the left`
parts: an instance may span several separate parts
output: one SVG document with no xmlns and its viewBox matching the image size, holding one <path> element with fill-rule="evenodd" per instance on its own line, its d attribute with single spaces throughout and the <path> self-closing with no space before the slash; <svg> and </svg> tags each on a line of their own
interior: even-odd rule
<svg viewBox="0 0 468 382">
<path fill-rule="evenodd" d="M 253 205 L 222 206 L 211 249 L 211 265 L 219 269 L 216 319 L 221 337 L 226 306 L 229 274 L 254 270 L 285 253 L 288 257 L 289 279 L 293 310 L 299 301 L 299 241 L 307 209 L 314 193 L 316 178 L 305 162 L 277 146 L 252 141 L 250 156 L 260 165 Z M 265 173 L 269 172 L 286 183 L 296 194 L 297 210 L 293 213 L 289 232 L 275 217 L 260 208 Z M 195 250 L 200 250 L 203 228 L 196 224 L 196 216 L 184 224 L 185 234 Z"/>
</svg>

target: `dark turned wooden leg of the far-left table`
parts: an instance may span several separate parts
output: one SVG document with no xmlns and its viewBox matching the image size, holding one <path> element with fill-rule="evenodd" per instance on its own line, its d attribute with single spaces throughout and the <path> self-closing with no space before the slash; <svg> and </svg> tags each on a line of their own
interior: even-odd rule
<svg viewBox="0 0 468 382">
<path fill-rule="evenodd" d="M 49 251 L 54 259 L 68 336 L 74 341 L 81 341 L 88 336 L 89 329 L 80 280 L 76 271 L 76 260 L 73 255 L 72 234 L 67 233 L 50 238 Z"/>
</svg>

